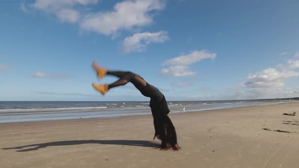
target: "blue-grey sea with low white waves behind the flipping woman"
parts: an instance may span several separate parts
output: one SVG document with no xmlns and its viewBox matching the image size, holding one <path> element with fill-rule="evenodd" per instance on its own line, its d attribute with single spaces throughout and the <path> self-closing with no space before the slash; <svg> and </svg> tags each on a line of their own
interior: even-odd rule
<svg viewBox="0 0 299 168">
<path fill-rule="evenodd" d="M 170 113 L 298 102 L 291 99 L 168 101 Z M 151 114 L 148 101 L 0 101 L 0 123 Z"/>
</svg>

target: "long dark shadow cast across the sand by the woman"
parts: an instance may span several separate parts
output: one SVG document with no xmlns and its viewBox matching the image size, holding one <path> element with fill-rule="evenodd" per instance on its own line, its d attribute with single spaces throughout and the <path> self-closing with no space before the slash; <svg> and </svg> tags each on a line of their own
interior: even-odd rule
<svg viewBox="0 0 299 168">
<path fill-rule="evenodd" d="M 81 145 L 81 144 L 104 144 L 104 145 L 126 145 L 126 146 L 143 146 L 143 147 L 159 147 L 160 145 L 151 141 L 138 141 L 138 140 L 74 140 L 74 141 L 57 141 L 48 142 L 42 144 L 32 144 L 25 146 L 17 146 L 2 149 L 21 149 L 17 152 L 27 152 L 32 150 L 38 150 L 40 148 L 46 148 L 48 146 L 66 146 L 66 145 Z M 23 149 L 32 147 L 29 149 Z"/>
</svg>

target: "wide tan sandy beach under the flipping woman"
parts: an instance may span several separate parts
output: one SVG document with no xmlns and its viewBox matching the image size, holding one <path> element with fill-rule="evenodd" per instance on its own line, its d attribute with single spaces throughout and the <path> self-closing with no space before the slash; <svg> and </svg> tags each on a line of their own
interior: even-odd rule
<svg viewBox="0 0 299 168">
<path fill-rule="evenodd" d="M 286 103 L 169 114 L 179 151 L 156 149 L 151 115 L 2 123 L 0 165 L 297 168 L 298 111 Z"/>
</svg>

